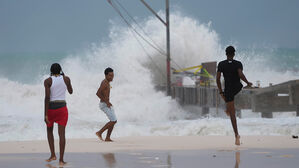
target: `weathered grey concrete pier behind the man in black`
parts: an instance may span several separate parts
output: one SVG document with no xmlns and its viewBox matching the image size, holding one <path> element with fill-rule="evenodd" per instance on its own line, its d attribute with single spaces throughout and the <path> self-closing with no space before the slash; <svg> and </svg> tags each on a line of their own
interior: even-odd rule
<svg viewBox="0 0 299 168">
<path fill-rule="evenodd" d="M 172 97 L 181 105 L 196 105 L 202 108 L 203 114 L 209 108 L 225 108 L 225 102 L 214 86 L 172 87 Z M 299 116 L 299 80 L 284 82 L 264 88 L 243 89 L 236 97 L 237 116 L 241 110 L 251 109 L 261 112 L 264 118 L 272 118 L 273 112 L 295 111 Z"/>
</svg>

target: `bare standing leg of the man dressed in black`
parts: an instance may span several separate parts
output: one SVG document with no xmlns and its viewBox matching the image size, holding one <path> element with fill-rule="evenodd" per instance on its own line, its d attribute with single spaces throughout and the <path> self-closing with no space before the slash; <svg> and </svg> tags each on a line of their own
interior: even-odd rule
<svg viewBox="0 0 299 168">
<path fill-rule="evenodd" d="M 236 138 L 236 145 L 240 145 L 240 136 L 238 133 L 238 126 L 237 126 L 237 119 L 236 119 L 236 115 L 235 115 L 235 103 L 234 101 L 230 101 L 226 103 L 226 108 L 227 108 L 227 112 L 229 113 L 230 116 L 230 120 L 235 132 L 235 138 Z"/>
</svg>

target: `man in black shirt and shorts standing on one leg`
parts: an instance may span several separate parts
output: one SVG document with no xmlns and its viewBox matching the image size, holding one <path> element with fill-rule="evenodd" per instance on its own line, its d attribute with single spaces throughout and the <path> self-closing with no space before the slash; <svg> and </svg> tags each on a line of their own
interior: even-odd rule
<svg viewBox="0 0 299 168">
<path fill-rule="evenodd" d="M 235 144 L 240 145 L 240 135 L 238 133 L 237 119 L 235 115 L 234 97 L 241 91 L 243 85 L 242 79 L 247 87 L 251 87 L 252 83 L 248 82 L 243 74 L 243 65 L 240 61 L 234 60 L 235 48 L 228 46 L 225 50 L 227 59 L 219 62 L 217 70 L 217 86 L 219 93 L 226 102 L 226 114 L 230 116 L 231 123 L 235 132 Z M 224 91 L 221 87 L 221 73 L 224 76 Z"/>
</svg>

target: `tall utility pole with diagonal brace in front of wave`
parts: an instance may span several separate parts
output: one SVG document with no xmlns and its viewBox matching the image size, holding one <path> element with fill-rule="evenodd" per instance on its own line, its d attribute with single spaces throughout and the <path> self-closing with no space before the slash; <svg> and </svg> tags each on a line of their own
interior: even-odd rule
<svg viewBox="0 0 299 168">
<path fill-rule="evenodd" d="M 171 77 L 170 77 L 170 30 L 169 30 L 169 0 L 166 4 L 166 22 L 144 1 L 140 0 L 165 26 L 166 26 L 166 72 L 167 72 L 167 95 L 171 96 Z"/>
</svg>

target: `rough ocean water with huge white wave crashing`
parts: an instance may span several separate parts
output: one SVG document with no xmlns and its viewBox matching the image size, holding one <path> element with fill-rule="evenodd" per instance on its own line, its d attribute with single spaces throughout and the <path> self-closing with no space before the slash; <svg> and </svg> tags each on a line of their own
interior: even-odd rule
<svg viewBox="0 0 299 168">
<path fill-rule="evenodd" d="M 209 23 L 171 15 L 173 68 L 225 59 L 219 35 Z M 142 23 L 155 43 L 165 48 L 165 29 L 149 17 Z M 0 141 L 46 139 L 43 80 L 50 65 L 59 62 L 72 80 L 73 95 L 67 95 L 68 138 L 92 138 L 108 120 L 98 108 L 95 93 L 106 67 L 115 70 L 111 102 L 118 117 L 113 136 L 144 135 L 233 135 L 227 117 L 193 117 L 156 84 L 165 82 L 165 56 L 145 43 L 140 47 L 127 27 L 111 22 L 109 41 L 90 44 L 84 51 L 65 53 L 15 53 L 0 55 Z M 299 78 L 299 50 L 269 47 L 238 48 L 236 59 L 244 73 L 262 86 Z M 158 68 L 157 68 L 158 67 Z M 238 120 L 241 135 L 299 134 L 294 113 L 275 114 L 273 119 L 243 111 Z M 188 119 L 186 119 L 188 118 Z M 55 128 L 56 129 L 56 128 Z M 57 137 L 57 136 L 56 136 Z"/>
</svg>

